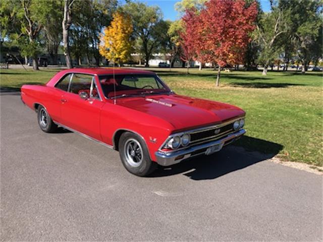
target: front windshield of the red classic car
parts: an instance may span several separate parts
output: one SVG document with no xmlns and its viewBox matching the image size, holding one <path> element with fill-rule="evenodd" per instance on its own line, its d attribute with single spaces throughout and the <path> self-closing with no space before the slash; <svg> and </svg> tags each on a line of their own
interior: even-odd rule
<svg viewBox="0 0 323 242">
<path fill-rule="evenodd" d="M 156 75 L 106 75 L 99 76 L 103 94 L 106 98 L 118 98 L 135 95 L 167 93 L 171 90 Z M 114 93 L 114 84 L 116 94 Z"/>
</svg>

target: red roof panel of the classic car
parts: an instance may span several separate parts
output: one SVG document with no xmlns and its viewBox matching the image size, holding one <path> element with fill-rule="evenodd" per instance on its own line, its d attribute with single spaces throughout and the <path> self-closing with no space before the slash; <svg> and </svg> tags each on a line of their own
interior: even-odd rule
<svg viewBox="0 0 323 242">
<path fill-rule="evenodd" d="M 64 73 L 84 73 L 92 75 L 110 75 L 110 74 L 155 74 L 150 71 L 131 69 L 131 68 L 72 68 L 62 71 Z"/>
</svg>

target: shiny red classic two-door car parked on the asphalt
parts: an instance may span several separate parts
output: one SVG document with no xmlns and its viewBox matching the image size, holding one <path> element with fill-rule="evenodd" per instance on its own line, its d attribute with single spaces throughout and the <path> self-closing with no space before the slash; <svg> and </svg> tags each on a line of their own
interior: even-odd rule
<svg viewBox="0 0 323 242">
<path fill-rule="evenodd" d="M 64 70 L 45 85 L 23 85 L 21 99 L 42 131 L 60 126 L 118 150 L 139 176 L 217 152 L 245 133 L 242 109 L 177 95 L 155 73 L 136 69 Z"/>
</svg>

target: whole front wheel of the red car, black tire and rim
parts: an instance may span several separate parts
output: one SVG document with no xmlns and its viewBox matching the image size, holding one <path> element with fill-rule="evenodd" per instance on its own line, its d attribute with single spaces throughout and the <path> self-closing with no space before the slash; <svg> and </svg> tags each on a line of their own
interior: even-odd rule
<svg viewBox="0 0 323 242">
<path fill-rule="evenodd" d="M 131 147 L 135 152 L 133 156 L 131 155 Z M 119 154 L 122 164 L 132 174 L 147 176 L 157 167 L 157 163 L 149 157 L 145 142 L 134 133 L 125 132 L 121 135 L 119 139 Z"/>
</svg>

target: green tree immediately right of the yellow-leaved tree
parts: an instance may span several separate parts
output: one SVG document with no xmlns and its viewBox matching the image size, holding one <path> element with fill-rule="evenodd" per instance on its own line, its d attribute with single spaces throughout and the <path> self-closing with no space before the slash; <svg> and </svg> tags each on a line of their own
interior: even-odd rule
<svg viewBox="0 0 323 242">
<path fill-rule="evenodd" d="M 163 27 L 165 23 L 161 18 L 161 10 L 158 7 L 150 7 L 144 3 L 129 2 L 123 10 L 131 16 L 135 38 L 139 38 L 142 46 L 137 51 L 144 55 L 145 67 L 149 66 L 149 59 L 163 41 Z"/>
</svg>

